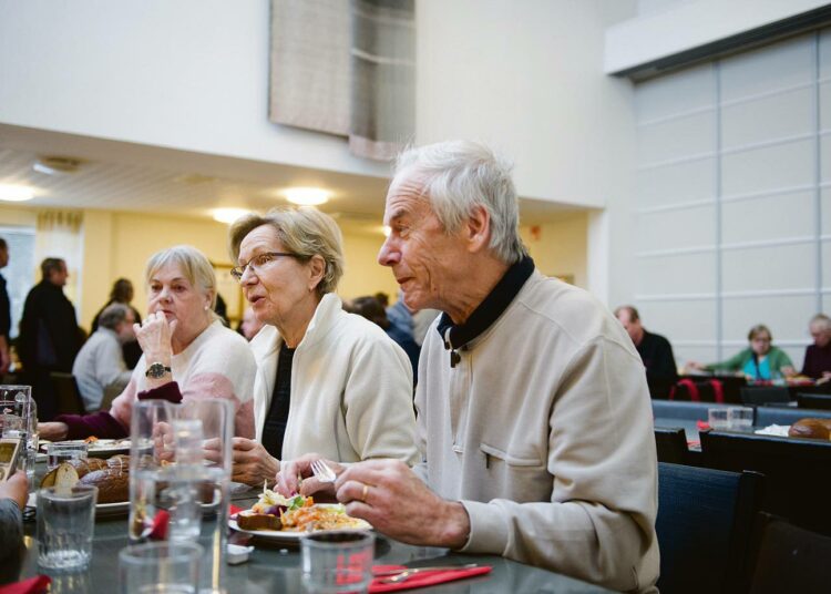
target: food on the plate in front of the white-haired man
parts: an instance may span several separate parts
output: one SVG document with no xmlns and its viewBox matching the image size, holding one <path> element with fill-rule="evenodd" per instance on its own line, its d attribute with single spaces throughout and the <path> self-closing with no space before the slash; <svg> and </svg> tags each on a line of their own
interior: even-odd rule
<svg viewBox="0 0 831 594">
<path fill-rule="evenodd" d="M 236 516 L 242 530 L 312 532 L 370 528 L 367 522 L 347 515 L 343 505 L 319 505 L 310 496 L 285 498 L 263 488 L 259 501 Z"/>
</svg>

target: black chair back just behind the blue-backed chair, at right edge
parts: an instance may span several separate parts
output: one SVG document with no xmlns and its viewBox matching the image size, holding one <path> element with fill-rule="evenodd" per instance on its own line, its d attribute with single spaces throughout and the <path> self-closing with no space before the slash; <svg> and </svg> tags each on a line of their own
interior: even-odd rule
<svg viewBox="0 0 831 594">
<path fill-rule="evenodd" d="M 701 431 L 701 463 L 767 477 L 762 510 L 807 530 L 831 534 L 828 506 L 831 441 Z"/>
</svg>

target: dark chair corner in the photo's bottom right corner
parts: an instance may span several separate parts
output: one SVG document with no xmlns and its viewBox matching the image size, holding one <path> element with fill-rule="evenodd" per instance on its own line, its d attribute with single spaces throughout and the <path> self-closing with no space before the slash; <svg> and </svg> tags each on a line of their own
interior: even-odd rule
<svg viewBox="0 0 831 594">
<path fill-rule="evenodd" d="M 761 542 L 751 594 L 819 594 L 831 590 L 831 537 L 763 513 L 759 523 Z"/>
</svg>

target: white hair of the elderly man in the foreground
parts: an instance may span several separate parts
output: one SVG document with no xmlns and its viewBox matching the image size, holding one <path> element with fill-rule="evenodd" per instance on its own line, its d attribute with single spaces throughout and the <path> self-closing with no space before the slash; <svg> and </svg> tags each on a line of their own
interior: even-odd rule
<svg viewBox="0 0 831 594">
<path fill-rule="evenodd" d="M 520 208 L 511 180 L 511 165 L 484 144 L 450 141 L 404 150 L 394 176 L 414 173 L 422 183 L 444 231 L 453 233 L 476 206 L 491 218 L 493 254 L 505 264 L 519 262 L 527 250 L 520 238 Z"/>
</svg>

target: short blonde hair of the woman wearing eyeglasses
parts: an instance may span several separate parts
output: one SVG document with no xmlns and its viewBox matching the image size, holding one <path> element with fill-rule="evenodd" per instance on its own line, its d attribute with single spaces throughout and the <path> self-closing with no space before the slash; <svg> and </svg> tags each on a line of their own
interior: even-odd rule
<svg viewBox="0 0 831 594">
<path fill-rule="evenodd" d="M 270 225 L 283 246 L 302 262 L 314 256 L 324 258 L 326 270 L 317 285 L 318 295 L 334 293 L 343 276 L 343 237 L 338 224 L 317 208 L 274 208 L 265 215 L 250 213 L 230 227 L 229 250 L 234 262 L 239 258 L 243 239 L 263 225 Z"/>
</svg>

